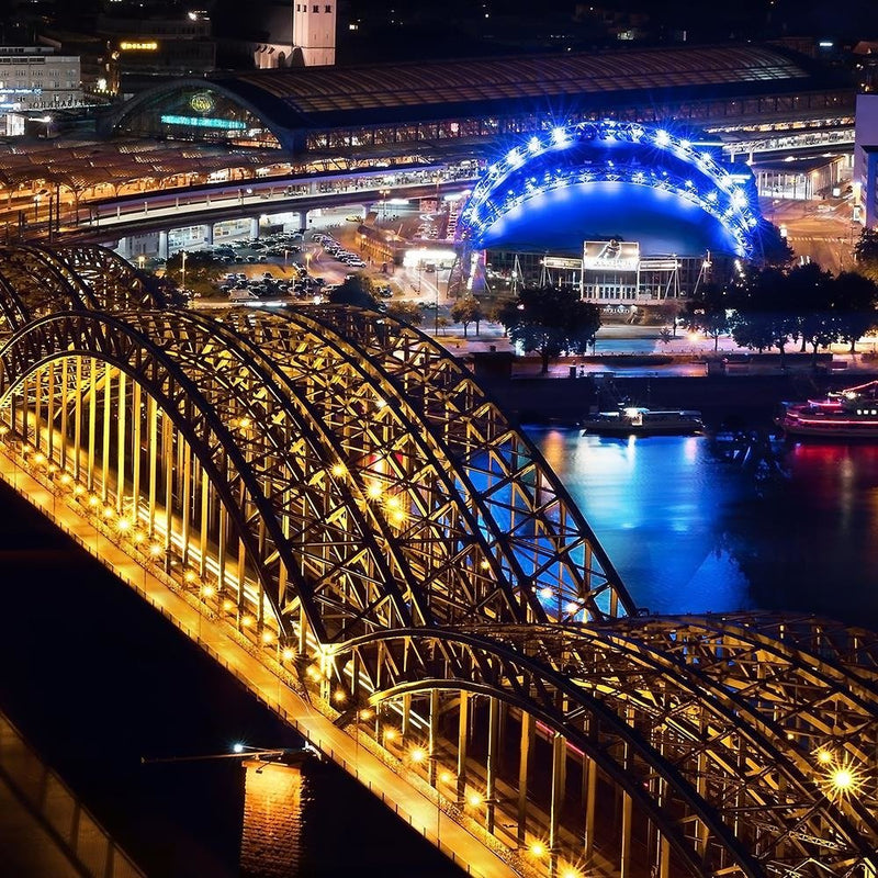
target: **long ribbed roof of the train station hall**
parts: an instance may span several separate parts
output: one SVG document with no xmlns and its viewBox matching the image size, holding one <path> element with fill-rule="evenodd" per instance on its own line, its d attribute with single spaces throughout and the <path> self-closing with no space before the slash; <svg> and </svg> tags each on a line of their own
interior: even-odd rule
<svg viewBox="0 0 878 878">
<path fill-rule="evenodd" d="M 779 47 L 716 45 L 469 60 L 309 67 L 213 76 L 284 127 L 375 124 L 545 99 L 632 92 L 763 93 L 824 88 L 828 72 Z M 837 85 L 837 82 L 836 82 Z"/>
</svg>

